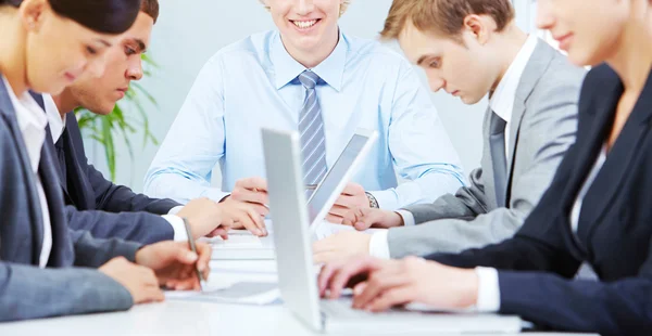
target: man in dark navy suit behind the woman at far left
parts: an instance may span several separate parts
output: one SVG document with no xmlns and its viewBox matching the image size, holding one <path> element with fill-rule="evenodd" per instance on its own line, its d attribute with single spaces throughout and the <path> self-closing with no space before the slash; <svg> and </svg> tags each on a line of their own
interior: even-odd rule
<svg viewBox="0 0 652 336">
<path fill-rule="evenodd" d="M 47 145 L 58 154 L 59 178 L 73 230 L 89 231 L 95 237 L 121 237 L 141 243 L 187 238 L 181 218 L 186 218 L 195 237 L 224 234 L 237 220 L 241 225 L 262 222 L 251 206 L 243 203 L 216 204 L 195 199 L 181 207 L 172 199 L 155 199 L 113 184 L 88 164 L 84 141 L 72 112 L 84 107 L 99 115 L 113 112 L 125 96 L 131 81 L 142 78 L 141 55 L 150 41 L 159 16 L 158 0 L 143 0 L 134 25 L 122 35 L 120 43 L 106 52 L 106 69 L 101 77 L 77 79 L 57 96 L 35 96 L 43 104 L 51 130 Z M 92 48 L 87 52 L 92 53 Z M 120 212 L 108 215 L 105 212 Z M 176 215 L 175 215 L 176 214 Z M 250 216 L 253 215 L 253 216 Z"/>
</svg>

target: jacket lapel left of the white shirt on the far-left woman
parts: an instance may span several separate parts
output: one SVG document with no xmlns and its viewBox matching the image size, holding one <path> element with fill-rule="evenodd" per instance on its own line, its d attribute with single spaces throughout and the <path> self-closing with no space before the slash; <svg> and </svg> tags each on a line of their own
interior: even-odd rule
<svg viewBox="0 0 652 336">
<path fill-rule="evenodd" d="M 35 233 L 32 237 L 32 246 L 34 247 L 32 253 L 32 263 L 38 264 L 40 261 L 40 250 L 43 240 L 42 211 L 40 208 L 38 192 L 36 190 L 36 179 L 34 177 L 34 172 L 32 171 L 32 164 L 29 163 L 29 156 L 27 154 L 25 142 L 23 141 L 23 133 L 21 133 L 15 109 L 11 103 L 11 99 L 9 98 L 8 90 L 11 90 L 11 88 L 5 87 L 4 81 L 1 78 L 2 74 L 0 74 L 0 114 L 7 118 L 11 135 L 17 144 L 16 147 L 21 160 L 20 165 L 23 169 L 23 175 L 25 176 L 24 185 L 29 195 L 29 199 L 27 199 L 30 212 L 29 224 L 32 225 L 32 231 Z"/>
</svg>

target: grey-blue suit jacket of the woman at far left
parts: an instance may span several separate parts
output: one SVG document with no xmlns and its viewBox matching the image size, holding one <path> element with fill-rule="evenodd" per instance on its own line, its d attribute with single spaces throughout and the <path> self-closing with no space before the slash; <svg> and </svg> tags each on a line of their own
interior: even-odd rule
<svg viewBox="0 0 652 336">
<path fill-rule="evenodd" d="M 47 146 L 38 173 L 48 202 L 52 249 L 47 269 L 38 268 L 42 211 L 8 89 L 0 80 L 0 321 L 128 309 L 133 299 L 125 287 L 103 273 L 72 266 L 97 268 L 116 256 L 134 260 L 140 245 L 70 232 Z"/>
</svg>

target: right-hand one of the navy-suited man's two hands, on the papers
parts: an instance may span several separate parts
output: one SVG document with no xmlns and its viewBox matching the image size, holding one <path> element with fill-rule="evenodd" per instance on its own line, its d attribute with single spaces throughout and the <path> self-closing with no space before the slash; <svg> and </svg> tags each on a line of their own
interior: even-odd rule
<svg viewBox="0 0 652 336">
<path fill-rule="evenodd" d="M 260 215 L 253 203 L 227 199 L 220 203 L 217 207 L 221 211 L 221 218 L 230 223 L 233 229 L 247 229 L 258 236 L 267 235 L 264 216 Z M 218 232 L 212 234 L 213 236 L 220 235 Z"/>
</svg>

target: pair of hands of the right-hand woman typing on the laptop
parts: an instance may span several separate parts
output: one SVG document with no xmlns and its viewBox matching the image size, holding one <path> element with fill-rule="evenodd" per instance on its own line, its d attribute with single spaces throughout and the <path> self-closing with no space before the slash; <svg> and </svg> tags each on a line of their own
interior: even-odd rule
<svg viewBox="0 0 652 336">
<path fill-rule="evenodd" d="M 358 281 L 351 283 L 350 280 L 355 277 Z M 410 302 L 444 310 L 464 309 L 476 303 L 479 286 L 474 270 L 417 257 L 385 262 L 359 257 L 325 267 L 318 283 L 322 296 L 329 289 L 330 298 L 339 297 L 346 285 L 353 286 L 353 308 L 369 311 L 384 311 Z"/>
</svg>

